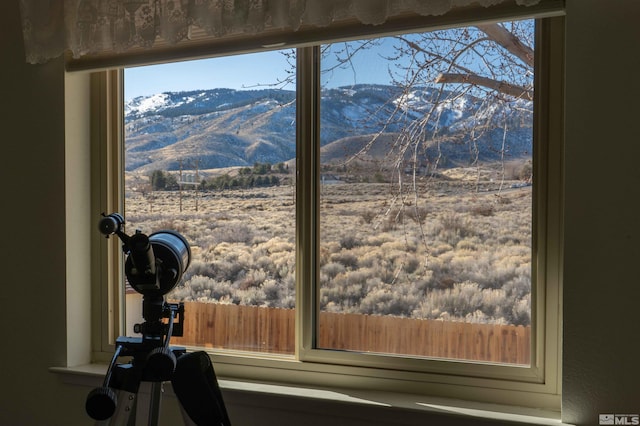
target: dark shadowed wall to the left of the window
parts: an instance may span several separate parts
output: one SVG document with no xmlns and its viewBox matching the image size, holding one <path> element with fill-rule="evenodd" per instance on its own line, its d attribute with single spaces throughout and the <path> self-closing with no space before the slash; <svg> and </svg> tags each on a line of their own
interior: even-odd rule
<svg viewBox="0 0 640 426">
<path fill-rule="evenodd" d="M 64 67 L 25 63 L 18 1 L 0 28 L 0 424 L 68 425 L 83 399 L 48 372 L 67 359 Z"/>
</svg>

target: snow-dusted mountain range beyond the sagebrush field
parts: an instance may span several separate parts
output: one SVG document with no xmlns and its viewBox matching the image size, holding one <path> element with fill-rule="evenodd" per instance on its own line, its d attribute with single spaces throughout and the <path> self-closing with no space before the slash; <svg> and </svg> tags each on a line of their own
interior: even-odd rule
<svg viewBox="0 0 640 426">
<path fill-rule="evenodd" d="M 441 166 L 468 162 L 469 143 L 487 160 L 501 155 L 504 140 L 507 156 L 531 152 L 530 103 L 485 104 L 449 95 L 384 85 L 323 91 L 323 161 L 355 153 L 382 158 L 402 145 L 398 138 L 421 144 L 428 157 L 434 134 L 440 157 L 445 154 Z M 295 158 L 295 124 L 293 91 L 213 89 L 138 97 L 125 105 L 126 169 L 177 170 L 181 161 L 193 159 L 201 169 L 285 162 Z"/>
</svg>

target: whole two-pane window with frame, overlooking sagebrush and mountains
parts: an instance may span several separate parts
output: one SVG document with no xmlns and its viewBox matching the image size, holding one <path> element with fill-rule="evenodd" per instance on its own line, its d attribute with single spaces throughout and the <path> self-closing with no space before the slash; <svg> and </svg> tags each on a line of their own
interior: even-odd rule
<svg viewBox="0 0 640 426">
<path fill-rule="evenodd" d="M 143 98 L 125 70 L 127 229 L 193 249 L 174 341 L 222 374 L 557 407 L 559 28 L 214 58 L 210 86 Z M 227 60 L 255 73 L 225 87 Z"/>
</svg>

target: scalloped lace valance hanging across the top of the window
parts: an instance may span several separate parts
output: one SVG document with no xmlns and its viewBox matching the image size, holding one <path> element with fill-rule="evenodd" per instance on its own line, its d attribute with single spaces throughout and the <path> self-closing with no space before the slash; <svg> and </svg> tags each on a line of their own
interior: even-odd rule
<svg viewBox="0 0 640 426">
<path fill-rule="evenodd" d="M 377 25 L 411 13 L 443 15 L 508 0 L 20 0 L 27 62 L 70 51 L 74 58 L 133 47 L 188 43 L 194 28 L 208 37 L 298 31 L 359 21 Z M 516 0 L 529 6 L 540 0 Z M 511 0 L 513 2 L 513 0 Z"/>
</svg>

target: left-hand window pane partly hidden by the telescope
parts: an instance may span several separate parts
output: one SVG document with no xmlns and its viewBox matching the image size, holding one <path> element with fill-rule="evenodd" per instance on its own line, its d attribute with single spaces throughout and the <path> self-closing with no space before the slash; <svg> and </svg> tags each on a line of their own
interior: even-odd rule
<svg viewBox="0 0 640 426">
<path fill-rule="evenodd" d="M 294 352 L 291 57 L 125 71 L 127 230 L 177 231 L 192 251 L 182 282 L 167 294 L 185 302 L 184 336 L 174 343 Z M 126 299 L 131 334 L 142 299 L 133 290 Z"/>
</svg>

